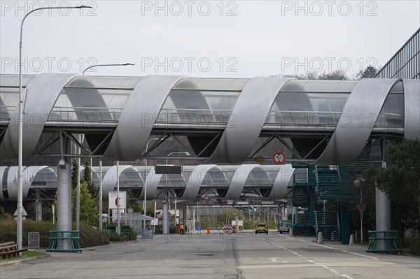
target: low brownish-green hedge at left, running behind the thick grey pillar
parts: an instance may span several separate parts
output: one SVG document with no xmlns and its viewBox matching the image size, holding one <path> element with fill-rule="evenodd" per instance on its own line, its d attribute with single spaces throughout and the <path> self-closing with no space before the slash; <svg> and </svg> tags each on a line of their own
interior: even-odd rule
<svg viewBox="0 0 420 279">
<path fill-rule="evenodd" d="M 0 243 L 16 241 L 17 229 L 15 220 L 0 220 L 0 227 Z M 48 248 L 48 245 L 50 245 L 50 231 L 57 230 L 57 224 L 45 221 L 23 220 L 22 229 L 22 246 L 27 246 L 29 232 L 39 232 L 39 245 L 41 248 Z M 106 232 L 101 232 L 87 224 L 80 223 L 79 243 L 82 248 L 107 245 L 109 244 L 109 236 Z"/>
</svg>

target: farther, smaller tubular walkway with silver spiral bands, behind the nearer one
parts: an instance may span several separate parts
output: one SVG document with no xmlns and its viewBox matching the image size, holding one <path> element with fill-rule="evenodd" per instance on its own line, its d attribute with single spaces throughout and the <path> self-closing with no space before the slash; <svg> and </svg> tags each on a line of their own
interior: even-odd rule
<svg viewBox="0 0 420 279">
<path fill-rule="evenodd" d="M 1 166 L 0 201 L 16 201 L 18 194 L 18 171 L 16 166 Z M 83 171 L 83 168 L 81 168 Z M 214 164 L 183 166 L 181 175 L 156 174 L 153 166 L 108 166 L 102 168 L 103 199 L 116 189 L 120 178 L 120 191 L 127 191 L 134 199 L 164 199 L 168 189 L 178 201 L 204 199 L 262 199 L 277 201 L 286 196 L 293 183 L 295 169 L 290 164 L 277 166 L 242 164 L 218 166 Z M 92 179 L 99 187 L 99 167 L 92 167 Z M 55 192 L 57 167 L 37 166 L 23 170 L 23 199 L 36 199 L 36 192 Z M 51 194 L 52 196 L 52 194 Z M 45 196 L 43 197 L 45 198 Z"/>
</svg>

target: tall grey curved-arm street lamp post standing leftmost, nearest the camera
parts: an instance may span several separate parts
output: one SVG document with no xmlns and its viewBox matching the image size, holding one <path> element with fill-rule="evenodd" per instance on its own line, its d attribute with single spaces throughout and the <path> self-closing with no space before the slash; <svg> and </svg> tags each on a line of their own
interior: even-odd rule
<svg viewBox="0 0 420 279">
<path fill-rule="evenodd" d="M 92 8 L 90 6 L 72 6 L 72 7 L 43 7 L 43 8 L 36 8 L 34 10 L 30 10 L 29 13 L 23 17 L 22 22 L 20 23 L 20 41 L 19 41 L 19 116 L 18 116 L 18 224 L 17 224 L 17 231 L 16 231 L 16 244 L 18 245 L 18 249 L 22 249 L 22 209 L 23 209 L 23 185 L 22 185 L 22 150 L 23 150 L 23 100 L 22 100 L 22 31 L 23 31 L 23 23 L 28 15 L 31 13 L 36 12 L 36 10 L 59 10 L 61 8 Z M 26 100 L 25 100 L 26 101 Z"/>
</svg>

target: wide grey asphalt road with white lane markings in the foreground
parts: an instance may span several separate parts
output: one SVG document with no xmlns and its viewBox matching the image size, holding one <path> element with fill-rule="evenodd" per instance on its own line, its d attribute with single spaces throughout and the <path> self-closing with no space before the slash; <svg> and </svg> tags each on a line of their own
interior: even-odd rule
<svg viewBox="0 0 420 279">
<path fill-rule="evenodd" d="M 420 258 L 266 234 L 158 236 L 1 266 L 0 278 L 419 279 Z"/>
</svg>

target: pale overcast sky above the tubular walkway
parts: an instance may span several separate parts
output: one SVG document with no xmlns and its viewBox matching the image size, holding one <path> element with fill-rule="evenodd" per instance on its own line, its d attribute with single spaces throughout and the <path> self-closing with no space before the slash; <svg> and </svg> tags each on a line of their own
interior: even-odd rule
<svg viewBox="0 0 420 279">
<path fill-rule="evenodd" d="M 420 27 L 420 1 L 1 1 L 1 73 L 252 78 L 383 66 Z"/>
</svg>

